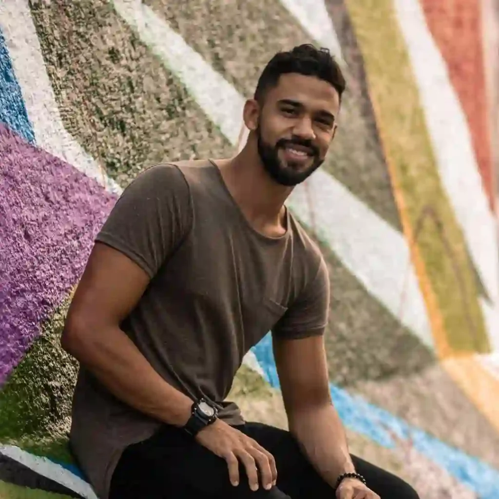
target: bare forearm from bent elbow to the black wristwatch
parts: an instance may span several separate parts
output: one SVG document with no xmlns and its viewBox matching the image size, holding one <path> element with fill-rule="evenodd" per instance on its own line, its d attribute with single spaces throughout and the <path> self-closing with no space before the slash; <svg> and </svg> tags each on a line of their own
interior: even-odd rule
<svg viewBox="0 0 499 499">
<path fill-rule="evenodd" d="M 183 426 L 192 400 L 168 384 L 118 327 L 99 334 L 65 331 L 61 344 L 113 395 L 159 421 Z"/>
</svg>

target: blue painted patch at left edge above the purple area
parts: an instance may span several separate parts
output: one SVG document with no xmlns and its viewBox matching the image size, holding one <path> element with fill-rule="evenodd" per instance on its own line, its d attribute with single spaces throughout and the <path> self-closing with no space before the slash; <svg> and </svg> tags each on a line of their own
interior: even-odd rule
<svg viewBox="0 0 499 499">
<path fill-rule="evenodd" d="M 34 132 L 24 106 L 21 89 L 12 68 L 5 38 L 0 29 L 0 122 L 34 144 Z"/>
</svg>

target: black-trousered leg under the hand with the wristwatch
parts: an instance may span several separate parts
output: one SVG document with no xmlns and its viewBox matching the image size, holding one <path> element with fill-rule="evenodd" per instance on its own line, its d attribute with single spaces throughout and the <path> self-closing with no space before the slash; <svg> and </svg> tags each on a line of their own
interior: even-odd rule
<svg viewBox="0 0 499 499">
<path fill-rule="evenodd" d="M 110 499 L 290 499 L 277 487 L 252 492 L 244 467 L 234 487 L 226 462 L 177 428 L 164 426 L 130 446 L 111 483 Z"/>
</svg>

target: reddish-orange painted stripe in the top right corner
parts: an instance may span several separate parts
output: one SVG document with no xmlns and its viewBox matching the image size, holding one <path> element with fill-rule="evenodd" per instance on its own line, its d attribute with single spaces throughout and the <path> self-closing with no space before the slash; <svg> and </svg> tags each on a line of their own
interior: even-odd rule
<svg viewBox="0 0 499 499">
<path fill-rule="evenodd" d="M 468 120 L 491 208 L 495 205 L 480 0 L 420 0 Z"/>
</svg>

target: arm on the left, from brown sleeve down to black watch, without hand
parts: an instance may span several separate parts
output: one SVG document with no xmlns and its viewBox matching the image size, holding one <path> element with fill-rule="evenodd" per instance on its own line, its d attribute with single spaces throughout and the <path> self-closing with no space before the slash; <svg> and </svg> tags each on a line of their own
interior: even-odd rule
<svg viewBox="0 0 499 499">
<path fill-rule="evenodd" d="M 191 227 L 181 171 L 165 164 L 141 172 L 96 236 L 61 339 L 118 399 L 177 426 L 187 422 L 192 401 L 156 373 L 119 325 Z"/>
</svg>

